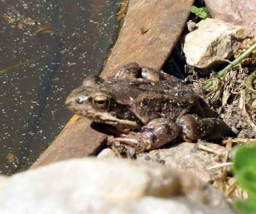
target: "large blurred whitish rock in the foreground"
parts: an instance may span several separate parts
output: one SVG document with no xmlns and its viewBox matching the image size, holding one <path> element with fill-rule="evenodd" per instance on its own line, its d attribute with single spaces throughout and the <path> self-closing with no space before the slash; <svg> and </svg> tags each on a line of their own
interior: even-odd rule
<svg viewBox="0 0 256 214">
<path fill-rule="evenodd" d="M 234 213 L 193 176 L 135 160 L 65 160 L 0 180 L 1 214 Z"/>
</svg>

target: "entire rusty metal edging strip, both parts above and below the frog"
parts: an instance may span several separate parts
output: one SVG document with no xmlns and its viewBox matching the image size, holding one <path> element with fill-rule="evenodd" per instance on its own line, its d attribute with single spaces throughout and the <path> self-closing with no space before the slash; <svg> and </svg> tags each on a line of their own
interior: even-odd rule
<svg viewBox="0 0 256 214">
<path fill-rule="evenodd" d="M 130 0 L 124 24 L 112 54 L 101 73 L 103 78 L 126 63 L 160 69 L 178 41 L 193 0 Z M 142 34 L 140 28 L 148 28 Z M 86 118 L 71 119 L 32 168 L 58 160 L 95 154 L 107 135 L 91 128 Z"/>
</svg>

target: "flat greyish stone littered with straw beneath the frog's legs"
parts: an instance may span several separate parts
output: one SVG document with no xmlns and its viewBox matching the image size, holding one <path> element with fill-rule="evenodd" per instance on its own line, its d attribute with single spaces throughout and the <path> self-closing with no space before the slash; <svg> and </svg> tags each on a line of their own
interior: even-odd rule
<svg viewBox="0 0 256 214">
<path fill-rule="evenodd" d="M 185 142 L 168 149 L 143 153 L 137 159 L 165 163 L 172 168 L 186 170 L 204 182 L 212 182 L 219 169 L 209 170 L 210 167 L 224 162 L 227 154 L 227 149 L 218 144 Z"/>
</svg>

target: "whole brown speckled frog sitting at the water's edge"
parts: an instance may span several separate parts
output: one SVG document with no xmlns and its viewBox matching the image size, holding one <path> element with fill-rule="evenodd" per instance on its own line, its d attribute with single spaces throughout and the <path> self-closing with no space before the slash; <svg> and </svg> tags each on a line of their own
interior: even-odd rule
<svg viewBox="0 0 256 214">
<path fill-rule="evenodd" d="M 129 63 L 114 76 L 90 75 L 68 96 L 71 111 L 94 122 L 114 126 L 114 141 L 159 148 L 175 139 L 218 141 L 228 125 L 214 118 L 204 100 L 180 79 Z"/>
</svg>

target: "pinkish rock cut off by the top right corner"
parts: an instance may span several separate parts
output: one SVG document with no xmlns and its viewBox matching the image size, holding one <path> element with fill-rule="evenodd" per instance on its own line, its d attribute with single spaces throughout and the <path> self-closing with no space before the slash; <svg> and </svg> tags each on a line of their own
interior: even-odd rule
<svg viewBox="0 0 256 214">
<path fill-rule="evenodd" d="M 205 0 L 213 18 L 247 26 L 256 35 L 255 0 Z"/>
</svg>

